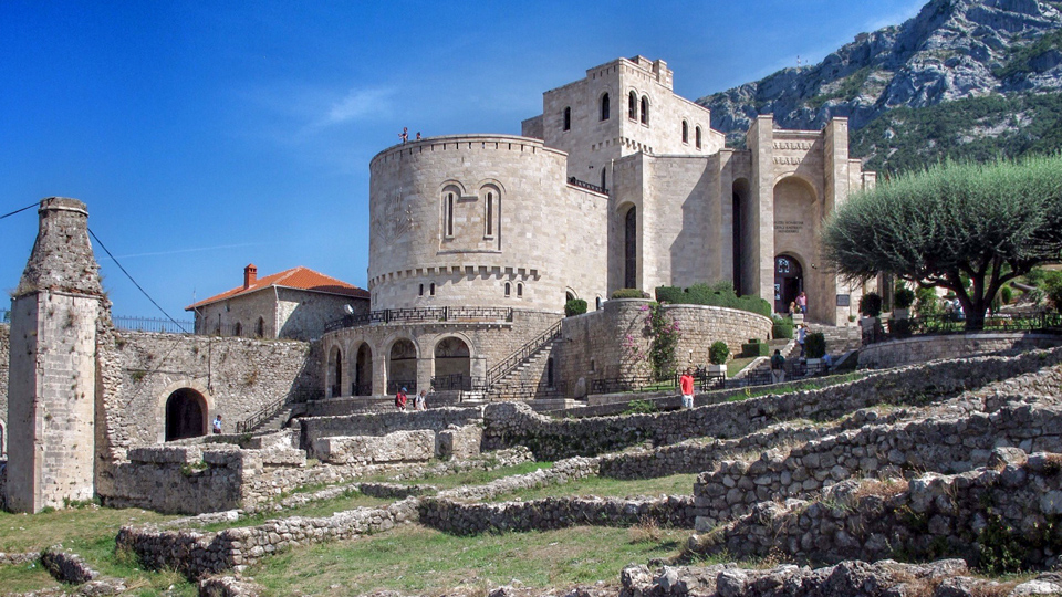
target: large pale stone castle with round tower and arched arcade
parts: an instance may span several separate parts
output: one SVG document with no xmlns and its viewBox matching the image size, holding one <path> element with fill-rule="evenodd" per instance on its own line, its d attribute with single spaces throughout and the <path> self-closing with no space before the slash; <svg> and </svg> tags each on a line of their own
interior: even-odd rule
<svg viewBox="0 0 1062 597">
<path fill-rule="evenodd" d="M 325 335 L 331 396 L 491 383 L 568 300 L 601 308 L 620 289 L 730 280 L 777 312 L 805 291 L 813 322 L 855 313 L 860 289 L 820 266 L 818 242 L 825 216 L 875 180 L 848 157 L 844 118 L 810 132 L 761 116 L 747 149 L 728 148 L 666 63 L 643 56 L 590 69 L 542 104 L 522 136 L 430 137 L 373 158 L 379 315 Z M 553 367 L 568 370 L 532 369 L 552 383 Z"/>
</svg>

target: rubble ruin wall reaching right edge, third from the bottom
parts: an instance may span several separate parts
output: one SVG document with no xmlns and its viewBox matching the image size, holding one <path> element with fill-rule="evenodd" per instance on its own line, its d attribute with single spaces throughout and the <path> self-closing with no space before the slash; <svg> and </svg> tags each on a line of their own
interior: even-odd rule
<svg viewBox="0 0 1062 597">
<path fill-rule="evenodd" d="M 847 479 L 912 478 L 985 467 L 999 446 L 1062 452 L 1062 408 L 1007 407 L 950 420 L 871 426 L 812 440 L 788 454 L 725 461 L 694 485 L 698 527 L 747 513 L 753 504 L 815 494 Z"/>
</svg>

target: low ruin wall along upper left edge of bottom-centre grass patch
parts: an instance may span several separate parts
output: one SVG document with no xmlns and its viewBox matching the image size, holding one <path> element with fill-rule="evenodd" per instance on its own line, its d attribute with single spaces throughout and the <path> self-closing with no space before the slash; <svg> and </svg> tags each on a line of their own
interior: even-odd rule
<svg viewBox="0 0 1062 597">
<path fill-rule="evenodd" d="M 253 564 L 267 554 L 299 545 L 371 535 L 416 519 L 416 499 L 385 507 L 360 507 L 326 519 L 291 517 L 268 521 L 258 526 L 228 528 L 218 533 L 198 531 L 158 531 L 152 526 L 123 526 L 117 548 L 137 554 L 149 569 L 178 570 L 199 578 Z"/>
</svg>

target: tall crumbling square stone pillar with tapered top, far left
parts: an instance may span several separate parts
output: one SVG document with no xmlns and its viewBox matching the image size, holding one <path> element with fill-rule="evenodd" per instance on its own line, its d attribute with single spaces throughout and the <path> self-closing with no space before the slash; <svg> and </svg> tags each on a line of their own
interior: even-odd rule
<svg viewBox="0 0 1062 597">
<path fill-rule="evenodd" d="M 8 509 L 93 496 L 96 318 L 105 302 L 88 211 L 51 197 L 11 301 Z"/>
</svg>

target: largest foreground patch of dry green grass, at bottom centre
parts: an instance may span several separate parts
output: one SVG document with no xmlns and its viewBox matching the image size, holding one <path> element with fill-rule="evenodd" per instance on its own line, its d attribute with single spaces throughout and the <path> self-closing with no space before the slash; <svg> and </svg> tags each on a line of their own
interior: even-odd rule
<svg viewBox="0 0 1062 597">
<path fill-rule="evenodd" d="M 616 583 L 631 562 L 679 552 L 688 531 L 662 530 L 655 540 L 627 528 L 560 531 L 458 537 L 419 525 L 385 534 L 316 545 L 266 558 L 247 575 L 267 594 L 357 595 L 477 593 L 519 580 L 527 587 Z"/>
</svg>

